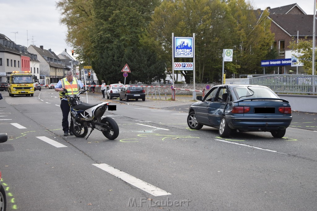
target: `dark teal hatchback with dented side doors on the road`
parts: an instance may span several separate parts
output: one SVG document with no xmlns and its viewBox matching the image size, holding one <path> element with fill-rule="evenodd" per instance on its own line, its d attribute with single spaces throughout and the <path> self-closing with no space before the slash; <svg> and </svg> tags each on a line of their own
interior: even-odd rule
<svg viewBox="0 0 317 211">
<path fill-rule="evenodd" d="M 292 121 L 288 101 L 266 86 L 218 85 L 197 100 L 189 107 L 188 126 L 195 130 L 203 125 L 216 127 L 223 138 L 233 131 L 263 131 L 282 138 Z"/>
</svg>

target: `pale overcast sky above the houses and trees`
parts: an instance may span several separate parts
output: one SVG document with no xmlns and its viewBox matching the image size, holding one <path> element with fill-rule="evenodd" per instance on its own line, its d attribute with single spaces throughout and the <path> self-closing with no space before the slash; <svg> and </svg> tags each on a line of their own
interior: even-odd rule
<svg viewBox="0 0 317 211">
<path fill-rule="evenodd" d="M 255 9 L 264 10 L 297 3 L 306 14 L 314 14 L 314 0 L 251 0 Z M 55 0 L 0 0 L 0 34 L 6 35 L 16 44 L 29 47 L 43 46 L 59 54 L 72 47 L 65 42 L 67 28 L 61 25 L 60 11 Z M 17 32 L 17 33 L 13 33 Z"/>
</svg>

